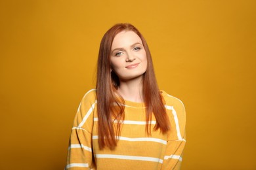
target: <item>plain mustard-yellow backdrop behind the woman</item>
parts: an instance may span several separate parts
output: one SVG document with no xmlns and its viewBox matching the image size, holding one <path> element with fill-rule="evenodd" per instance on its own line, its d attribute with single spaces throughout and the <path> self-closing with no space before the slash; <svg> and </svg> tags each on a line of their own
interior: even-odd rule
<svg viewBox="0 0 256 170">
<path fill-rule="evenodd" d="M 256 169 L 256 1 L 0 1 L 0 169 L 64 169 L 100 39 L 139 28 L 187 112 L 182 169 Z"/>
</svg>

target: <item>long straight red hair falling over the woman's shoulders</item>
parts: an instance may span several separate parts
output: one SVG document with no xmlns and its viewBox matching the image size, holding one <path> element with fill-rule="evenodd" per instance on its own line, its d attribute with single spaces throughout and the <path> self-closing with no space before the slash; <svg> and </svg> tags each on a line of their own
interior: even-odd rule
<svg viewBox="0 0 256 170">
<path fill-rule="evenodd" d="M 98 112 L 98 144 L 100 149 L 107 146 L 114 149 L 117 145 L 116 136 L 120 135 L 121 120 L 124 118 L 125 101 L 118 95 L 119 78 L 111 72 L 110 52 L 112 42 L 117 33 L 133 31 L 139 35 L 147 57 L 147 69 L 143 78 L 144 103 L 146 105 L 146 132 L 151 133 L 152 113 L 156 117 L 154 130 L 160 129 L 162 133 L 169 130 L 169 118 L 166 114 L 164 101 L 161 97 L 148 44 L 139 30 L 131 24 L 116 24 L 103 36 L 98 53 L 96 97 Z M 114 120 L 117 120 L 116 126 Z"/>
</svg>

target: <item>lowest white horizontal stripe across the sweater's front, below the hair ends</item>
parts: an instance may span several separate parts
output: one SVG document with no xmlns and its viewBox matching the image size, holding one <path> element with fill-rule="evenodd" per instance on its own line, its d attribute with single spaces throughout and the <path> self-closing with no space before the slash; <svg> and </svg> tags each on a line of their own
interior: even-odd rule
<svg viewBox="0 0 256 170">
<path fill-rule="evenodd" d="M 113 154 L 96 154 L 96 158 L 114 158 L 121 160 L 139 160 L 139 161 L 155 161 L 163 163 L 163 160 L 160 158 L 152 158 L 146 156 L 127 156 L 127 155 L 113 155 Z"/>
</svg>

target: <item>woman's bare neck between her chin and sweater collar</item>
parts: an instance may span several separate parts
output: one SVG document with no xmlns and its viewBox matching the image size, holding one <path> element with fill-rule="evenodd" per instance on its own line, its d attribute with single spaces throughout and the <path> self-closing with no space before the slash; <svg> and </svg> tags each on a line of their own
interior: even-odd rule
<svg viewBox="0 0 256 170">
<path fill-rule="evenodd" d="M 117 90 L 121 97 L 127 101 L 143 102 L 143 80 L 142 78 L 135 78 L 129 81 L 120 81 Z"/>
</svg>

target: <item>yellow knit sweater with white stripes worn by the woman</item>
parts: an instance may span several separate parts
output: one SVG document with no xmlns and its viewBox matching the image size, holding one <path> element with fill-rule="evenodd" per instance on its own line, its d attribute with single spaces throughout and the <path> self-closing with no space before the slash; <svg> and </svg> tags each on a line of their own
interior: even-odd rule
<svg viewBox="0 0 256 170">
<path fill-rule="evenodd" d="M 87 92 L 75 115 L 66 169 L 180 169 L 186 143 L 185 109 L 179 99 L 161 92 L 171 130 L 154 131 L 152 115 L 152 135 L 148 136 L 144 103 L 125 101 L 125 120 L 115 150 L 98 147 L 96 90 Z"/>
</svg>

